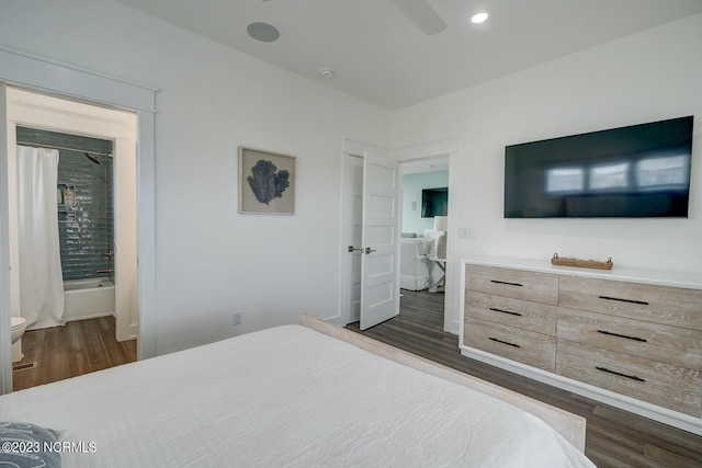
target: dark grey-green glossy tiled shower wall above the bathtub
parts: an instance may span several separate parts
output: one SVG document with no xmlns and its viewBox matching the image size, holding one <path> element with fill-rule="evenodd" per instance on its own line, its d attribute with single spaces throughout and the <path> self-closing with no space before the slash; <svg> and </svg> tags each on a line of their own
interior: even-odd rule
<svg viewBox="0 0 702 468">
<path fill-rule="evenodd" d="M 76 186 L 73 206 L 58 207 L 58 235 L 64 281 L 112 277 L 95 270 L 113 270 L 114 205 L 112 158 L 98 156 L 92 162 L 83 151 L 112 152 L 112 141 L 18 127 L 18 142 L 42 144 L 59 149 L 58 184 Z"/>
</svg>

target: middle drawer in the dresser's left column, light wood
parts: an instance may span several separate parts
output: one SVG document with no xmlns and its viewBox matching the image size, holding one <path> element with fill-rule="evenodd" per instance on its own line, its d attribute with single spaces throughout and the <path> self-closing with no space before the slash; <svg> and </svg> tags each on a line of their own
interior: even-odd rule
<svg viewBox="0 0 702 468">
<path fill-rule="evenodd" d="M 468 290 L 465 315 L 537 333 L 556 334 L 556 306 Z"/>
</svg>

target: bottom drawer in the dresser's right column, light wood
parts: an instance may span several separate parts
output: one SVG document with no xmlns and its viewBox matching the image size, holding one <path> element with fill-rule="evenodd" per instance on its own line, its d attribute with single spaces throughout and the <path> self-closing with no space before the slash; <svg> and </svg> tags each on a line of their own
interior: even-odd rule
<svg viewBox="0 0 702 468">
<path fill-rule="evenodd" d="M 558 340 L 556 373 L 700 418 L 700 373 L 629 354 Z"/>
</svg>

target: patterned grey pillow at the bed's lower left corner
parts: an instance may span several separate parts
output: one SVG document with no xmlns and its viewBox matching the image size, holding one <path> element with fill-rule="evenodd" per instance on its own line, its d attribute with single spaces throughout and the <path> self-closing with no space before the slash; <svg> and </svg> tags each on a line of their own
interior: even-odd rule
<svg viewBox="0 0 702 468">
<path fill-rule="evenodd" d="M 44 450 L 58 442 L 58 432 L 35 424 L 0 422 L 0 466 L 19 468 L 60 467 L 59 452 Z"/>
</svg>

